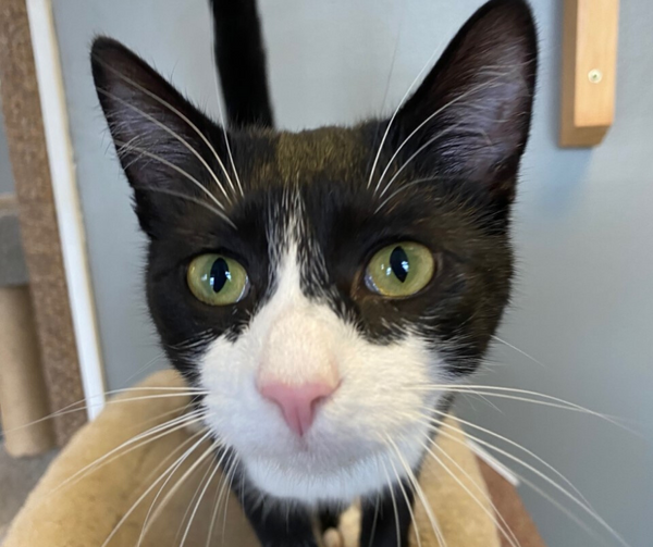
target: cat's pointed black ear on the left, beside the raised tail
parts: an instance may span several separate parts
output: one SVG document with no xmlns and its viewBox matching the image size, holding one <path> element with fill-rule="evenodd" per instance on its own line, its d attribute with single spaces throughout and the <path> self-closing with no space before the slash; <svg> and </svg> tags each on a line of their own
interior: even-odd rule
<svg viewBox="0 0 653 547">
<path fill-rule="evenodd" d="M 158 226 L 192 207 L 219 208 L 214 124 L 115 40 L 95 40 L 91 67 L 143 229 L 155 237 Z"/>
</svg>

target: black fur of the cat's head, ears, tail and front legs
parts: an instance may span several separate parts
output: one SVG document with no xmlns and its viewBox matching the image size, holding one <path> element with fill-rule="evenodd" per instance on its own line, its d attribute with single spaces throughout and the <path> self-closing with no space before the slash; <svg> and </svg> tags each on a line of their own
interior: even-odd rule
<svg viewBox="0 0 653 547">
<path fill-rule="evenodd" d="M 528 5 L 492 0 L 471 17 L 398 112 L 368 187 L 370 158 L 389 120 L 300 134 L 261 128 L 272 120 L 262 85 L 260 33 L 258 23 L 252 25 L 256 10 L 250 1 L 238 8 L 248 13 L 248 32 L 234 41 L 231 33 L 239 23 L 220 17 L 225 10 L 238 11 L 235 3 L 213 3 L 218 49 L 227 59 L 219 58 L 219 65 L 226 71 L 223 84 L 234 122 L 229 134 L 120 43 L 98 38 L 93 48 L 98 97 L 150 240 L 148 303 L 171 361 L 193 381 L 202 347 L 221 335 L 237 339 L 267 301 L 278 282 L 271 268 L 274 253 L 269 251 L 284 245 L 271 228 L 297 213 L 288 198 L 293 194 L 303 208 L 295 216 L 301 219 L 296 228 L 301 288 L 309 298 L 329 303 L 374 344 L 390 344 L 410 330 L 445 356 L 452 375 L 473 372 L 510 293 L 510 204 L 528 139 L 537 69 Z M 241 40 L 245 42 L 238 47 L 251 53 L 244 64 L 251 80 L 241 79 L 234 62 Z M 252 97 L 239 95 L 245 82 L 251 84 L 246 87 Z M 259 127 L 249 127 L 252 123 Z M 403 146 L 409 135 L 414 137 Z M 226 161 L 226 137 L 242 195 Z M 121 149 L 125 144 L 130 146 Z M 217 157 L 224 159 L 224 169 Z M 384 191 L 393 177 L 392 188 Z M 215 200 L 224 211 L 217 211 Z M 418 295 L 383 298 L 366 286 L 366 264 L 377 250 L 402 240 L 431 249 L 438 272 Z M 209 251 L 232 256 L 248 271 L 251 289 L 238 303 L 208 307 L 190 294 L 188 263 Z M 245 490 L 251 488 L 246 484 Z M 389 494 L 380 495 L 383 511 L 374 519 L 373 538 L 370 508 L 375 500 L 366 504 L 364 539 L 371 547 L 397 547 Z M 245 510 L 263 545 L 315 545 L 305 509 L 292 513 L 287 524 L 266 521 L 247 499 Z M 407 508 L 399 512 L 398 545 L 406 545 Z"/>
</svg>

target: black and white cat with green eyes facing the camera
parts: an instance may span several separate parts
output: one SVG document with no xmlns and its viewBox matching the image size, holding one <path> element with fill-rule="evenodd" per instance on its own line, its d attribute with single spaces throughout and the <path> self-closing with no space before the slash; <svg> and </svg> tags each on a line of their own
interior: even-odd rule
<svg viewBox="0 0 653 547">
<path fill-rule="evenodd" d="M 272 128 L 255 2 L 212 9 L 229 126 L 121 43 L 91 50 L 161 345 L 263 546 L 317 546 L 315 515 L 356 498 L 360 545 L 406 546 L 433 412 L 510 297 L 530 8 L 480 8 L 391 117 L 300 133 Z"/>
</svg>

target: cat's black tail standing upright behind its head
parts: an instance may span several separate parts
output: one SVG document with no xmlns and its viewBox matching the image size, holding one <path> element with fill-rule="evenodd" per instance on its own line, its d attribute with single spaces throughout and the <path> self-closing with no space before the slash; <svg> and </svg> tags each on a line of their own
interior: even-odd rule
<svg viewBox="0 0 653 547">
<path fill-rule="evenodd" d="M 273 125 L 256 0 L 209 0 L 215 63 L 232 127 Z"/>
</svg>

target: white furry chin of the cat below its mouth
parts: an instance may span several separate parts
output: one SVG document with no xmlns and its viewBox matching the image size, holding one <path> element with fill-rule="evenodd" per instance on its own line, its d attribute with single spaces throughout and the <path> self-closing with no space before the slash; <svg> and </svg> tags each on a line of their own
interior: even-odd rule
<svg viewBox="0 0 653 547">
<path fill-rule="evenodd" d="M 271 458 L 244 458 L 247 477 L 252 486 L 280 501 L 295 501 L 308 506 L 342 504 L 348 506 L 356 498 L 374 496 L 397 474 L 405 476 L 404 464 L 412 470 L 421 461 L 421 450 L 412 450 L 403 462 L 394 453 L 370 455 L 348 462 L 338 462 L 329 469 L 316 467 L 311 458 L 298 453 L 292 461 Z"/>
</svg>

